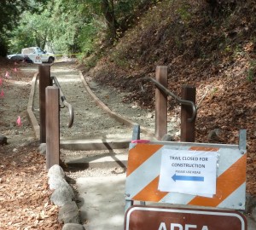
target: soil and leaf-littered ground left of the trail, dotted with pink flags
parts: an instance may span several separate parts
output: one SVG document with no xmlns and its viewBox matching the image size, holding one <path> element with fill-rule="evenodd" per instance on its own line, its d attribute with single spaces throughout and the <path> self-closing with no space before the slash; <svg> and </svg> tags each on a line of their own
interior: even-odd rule
<svg viewBox="0 0 256 230">
<path fill-rule="evenodd" d="M 0 229 L 61 229 L 59 208 L 49 201 L 45 159 L 26 118 L 33 74 L 21 72 L 23 66 L 0 60 L 0 134 L 9 143 L 0 145 Z"/>
</svg>

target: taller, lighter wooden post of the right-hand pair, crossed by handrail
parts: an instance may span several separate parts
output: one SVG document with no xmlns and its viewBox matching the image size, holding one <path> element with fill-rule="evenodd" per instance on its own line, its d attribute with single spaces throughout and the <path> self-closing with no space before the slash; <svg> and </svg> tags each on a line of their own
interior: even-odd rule
<svg viewBox="0 0 256 230">
<path fill-rule="evenodd" d="M 157 66 L 155 79 L 168 87 L 167 66 Z M 155 136 L 161 140 L 167 134 L 167 95 L 155 89 Z"/>
</svg>

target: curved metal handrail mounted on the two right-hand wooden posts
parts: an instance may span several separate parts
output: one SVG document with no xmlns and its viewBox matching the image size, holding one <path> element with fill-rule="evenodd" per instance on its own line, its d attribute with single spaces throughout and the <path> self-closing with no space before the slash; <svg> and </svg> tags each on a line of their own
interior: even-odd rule
<svg viewBox="0 0 256 230">
<path fill-rule="evenodd" d="M 145 91 L 144 87 L 143 87 L 143 83 L 145 81 L 153 82 L 156 85 L 156 87 L 158 89 L 160 89 L 164 94 L 172 96 L 172 98 L 174 98 L 178 102 L 179 105 L 191 106 L 191 108 L 192 108 L 192 117 L 188 118 L 188 120 L 189 120 L 189 122 L 193 122 L 195 120 L 196 114 L 197 114 L 197 109 L 196 109 L 195 103 L 193 101 L 183 100 L 180 97 L 178 97 L 177 95 L 174 95 L 169 89 L 166 89 L 165 86 L 163 86 L 161 83 L 159 83 L 154 78 L 143 78 L 142 79 L 142 90 L 143 91 Z"/>
</svg>

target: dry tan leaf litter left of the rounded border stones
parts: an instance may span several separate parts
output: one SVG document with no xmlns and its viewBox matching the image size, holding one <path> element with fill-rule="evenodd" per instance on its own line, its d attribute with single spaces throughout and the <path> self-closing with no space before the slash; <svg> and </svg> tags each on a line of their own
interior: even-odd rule
<svg viewBox="0 0 256 230">
<path fill-rule="evenodd" d="M 0 229 L 61 229 L 49 201 L 44 157 L 23 147 L 0 153 Z"/>
</svg>

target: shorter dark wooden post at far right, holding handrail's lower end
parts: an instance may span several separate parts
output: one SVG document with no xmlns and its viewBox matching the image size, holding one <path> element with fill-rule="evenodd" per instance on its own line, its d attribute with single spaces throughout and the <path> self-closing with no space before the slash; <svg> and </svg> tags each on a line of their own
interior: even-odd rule
<svg viewBox="0 0 256 230">
<path fill-rule="evenodd" d="M 189 85 L 183 85 L 182 87 L 182 99 L 187 101 L 193 101 L 195 103 L 195 87 Z M 195 120 L 188 121 L 188 118 L 192 118 L 191 106 L 181 106 L 181 135 L 180 141 L 195 142 Z"/>
</svg>

